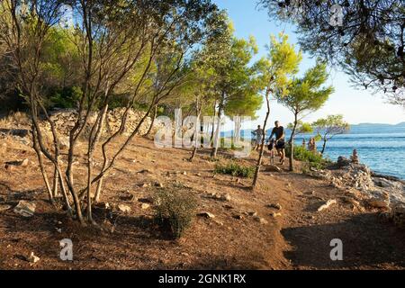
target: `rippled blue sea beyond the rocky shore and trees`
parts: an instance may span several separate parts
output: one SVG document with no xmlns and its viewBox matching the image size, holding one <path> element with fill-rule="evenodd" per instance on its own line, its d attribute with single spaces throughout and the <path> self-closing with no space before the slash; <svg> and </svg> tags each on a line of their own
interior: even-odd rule
<svg viewBox="0 0 405 288">
<path fill-rule="evenodd" d="M 243 134 L 250 133 L 245 130 Z M 289 135 L 288 130 L 286 134 Z M 306 139 L 308 143 L 312 136 L 299 135 L 295 143 L 302 143 L 302 139 Z M 321 141 L 317 142 L 318 150 L 322 148 L 322 144 Z M 347 134 L 337 135 L 329 140 L 324 155 L 336 161 L 339 156 L 350 157 L 353 149 L 357 149 L 360 162 L 369 166 L 375 173 L 405 180 L 405 122 L 397 125 L 352 125 Z"/>
</svg>

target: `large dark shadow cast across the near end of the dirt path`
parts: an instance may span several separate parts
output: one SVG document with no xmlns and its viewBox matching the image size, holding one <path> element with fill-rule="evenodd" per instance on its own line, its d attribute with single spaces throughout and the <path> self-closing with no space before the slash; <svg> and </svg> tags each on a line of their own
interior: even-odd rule
<svg viewBox="0 0 405 288">
<path fill-rule="evenodd" d="M 295 249 L 284 252 L 294 266 L 315 269 L 405 267 L 405 230 L 379 220 L 374 213 L 359 214 L 344 222 L 281 230 Z M 343 261 L 330 259 L 330 241 L 343 242 Z"/>
</svg>

